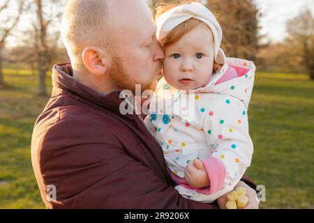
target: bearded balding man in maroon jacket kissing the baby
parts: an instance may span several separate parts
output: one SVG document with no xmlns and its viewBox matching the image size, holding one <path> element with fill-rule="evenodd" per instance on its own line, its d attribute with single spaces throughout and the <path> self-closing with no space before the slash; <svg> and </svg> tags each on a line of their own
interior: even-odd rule
<svg viewBox="0 0 314 223">
<path fill-rule="evenodd" d="M 140 116 L 119 112 L 120 91 L 154 89 L 164 58 L 146 3 L 70 0 L 61 35 L 71 64 L 54 66 L 52 97 L 31 145 L 45 206 L 217 208 L 181 197 Z M 248 190 L 248 208 L 257 208 L 255 190 L 239 185 Z"/>
</svg>

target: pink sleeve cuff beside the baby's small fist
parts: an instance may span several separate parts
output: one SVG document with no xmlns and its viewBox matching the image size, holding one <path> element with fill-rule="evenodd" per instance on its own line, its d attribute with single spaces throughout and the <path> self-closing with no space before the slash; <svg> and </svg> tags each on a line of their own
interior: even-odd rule
<svg viewBox="0 0 314 223">
<path fill-rule="evenodd" d="M 223 188 L 225 183 L 225 167 L 223 163 L 216 157 L 208 157 L 206 160 L 201 160 L 207 171 L 211 186 L 209 189 L 198 189 L 197 192 L 202 194 L 214 194 Z"/>
</svg>

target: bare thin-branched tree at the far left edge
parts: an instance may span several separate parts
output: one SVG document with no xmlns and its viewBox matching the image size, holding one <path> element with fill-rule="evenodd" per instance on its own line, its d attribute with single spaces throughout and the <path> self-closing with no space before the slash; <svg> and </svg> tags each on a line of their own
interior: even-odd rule
<svg viewBox="0 0 314 223">
<path fill-rule="evenodd" d="M 6 0 L 2 6 L 0 6 L 0 13 L 8 13 L 6 10 L 9 7 L 10 0 Z M 24 10 L 24 1 L 20 0 L 17 2 L 17 15 L 15 17 L 6 16 L 6 18 L 3 18 L 0 21 L 0 89 L 2 89 L 4 86 L 6 86 L 5 82 L 3 81 L 3 71 L 2 71 L 2 64 L 3 64 L 3 56 L 2 51 L 6 45 L 6 39 L 10 35 L 10 32 L 15 28 L 17 23 L 20 20 L 20 16 L 22 15 L 22 12 Z"/>
</svg>

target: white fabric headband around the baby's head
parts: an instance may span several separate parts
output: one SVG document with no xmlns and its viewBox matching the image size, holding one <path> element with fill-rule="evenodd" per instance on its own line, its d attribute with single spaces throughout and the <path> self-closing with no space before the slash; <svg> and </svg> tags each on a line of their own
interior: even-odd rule
<svg viewBox="0 0 314 223">
<path fill-rule="evenodd" d="M 215 61 L 217 63 L 224 63 L 225 53 L 223 52 L 223 49 L 220 48 L 221 40 L 223 38 L 223 30 L 214 14 L 211 13 L 208 8 L 203 6 L 202 3 L 193 2 L 176 6 L 160 15 L 158 20 L 156 20 L 158 40 L 165 38 L 169 31 L 191 18 L 200 20 L 209 26 L 209 29 L 211 29 L 214 36 Z"/>
</svg>

